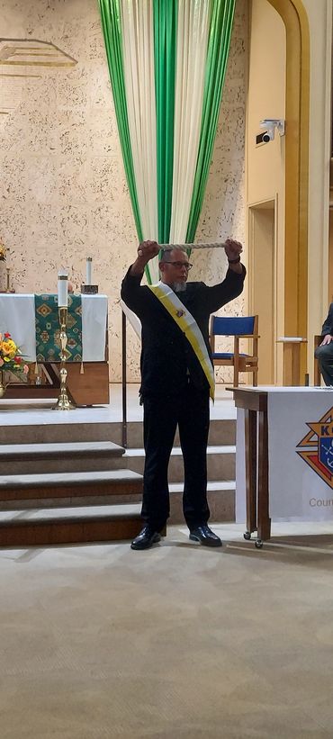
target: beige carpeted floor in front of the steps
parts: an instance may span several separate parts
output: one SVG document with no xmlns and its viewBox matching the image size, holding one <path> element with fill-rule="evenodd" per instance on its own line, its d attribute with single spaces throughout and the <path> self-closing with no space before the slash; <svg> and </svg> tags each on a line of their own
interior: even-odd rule
<svg viewBox="0 0 333 739">
<path fill-rule="evenodd" d="M 333 531 L 214 528 L 2 550 L 1 739 L 332 739 Z"/>
</svg>

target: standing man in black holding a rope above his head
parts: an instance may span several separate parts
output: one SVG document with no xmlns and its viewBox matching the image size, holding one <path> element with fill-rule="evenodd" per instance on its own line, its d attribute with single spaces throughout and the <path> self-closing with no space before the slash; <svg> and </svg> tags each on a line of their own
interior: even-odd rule
<svg viewBox="0 0 333 739">
<path fill-rule="evenodd" d="M 121 285 L 121 298 L 142 325 L 140 396 L 143 402 L 145 469 L 141 516 L 144 527 L 132 549 L 148 549 L 160 540 L 169 516 L 167 468 L 178 424 L 184 459 L 183 510 L 190 539 L 220 546 L 208 527 L 207 443 L 214 369 L 209 345 L 211 313 L 243 290 L 242 246 L 228 239 L 229 269 L 211 287 L 187 283 L 191 264 L 183 248 L 165 248 L 159 262 L 160 282 L 141 285 L 148 261 L 157 257 L 156 241 L 139 244 L 138 257 Z"/>
</svg>

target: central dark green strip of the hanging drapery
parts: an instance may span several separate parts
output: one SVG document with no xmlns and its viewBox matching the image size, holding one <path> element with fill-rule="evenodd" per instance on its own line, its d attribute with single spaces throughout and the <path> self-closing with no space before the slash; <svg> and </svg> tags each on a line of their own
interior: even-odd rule
<svg viewBox="0 0 333 739">
<path fill-rule="evenodd" d="M 170 234 L 174 166 L 177 0 L 154 0 L 158 241 Z"/>
</svg>

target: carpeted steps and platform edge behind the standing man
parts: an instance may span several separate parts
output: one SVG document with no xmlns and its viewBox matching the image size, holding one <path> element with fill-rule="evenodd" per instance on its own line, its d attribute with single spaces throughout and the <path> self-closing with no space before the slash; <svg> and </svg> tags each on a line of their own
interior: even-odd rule
<svg viewBox="0 0 333 739">
<path fill-rule="evenodd" d="M 25 545 L 41 545 L 135 536 L 144 466 L 139 385 L 127 386 L 126 448 L 121 384 L 111 385 L 108 405 L 56 411 L 55 401 L 0 401 L 0 545 L 18 545 L 23 538 Z M 235 439 L 235 404 L 218 385 L 208 447 L 211 521 L 235 519 Z M 169 487 L 169 522 L 182 523 L 177 435 Z"/>
</svg>

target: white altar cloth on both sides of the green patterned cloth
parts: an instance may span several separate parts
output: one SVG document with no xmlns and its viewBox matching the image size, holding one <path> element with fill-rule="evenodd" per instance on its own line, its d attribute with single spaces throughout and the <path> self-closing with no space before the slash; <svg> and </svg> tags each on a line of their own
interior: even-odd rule
<svg viewBox="0 0 333 739">
<path fill-rule="evenodd" d="M 103 362 L 107 326 L 107 296 L 81 295 L 82 361 Z M 9 331 L 24 358 L 36 361 L 33 293 L 0 294 L 0 332 Z"/>
</svg>

